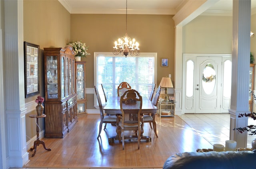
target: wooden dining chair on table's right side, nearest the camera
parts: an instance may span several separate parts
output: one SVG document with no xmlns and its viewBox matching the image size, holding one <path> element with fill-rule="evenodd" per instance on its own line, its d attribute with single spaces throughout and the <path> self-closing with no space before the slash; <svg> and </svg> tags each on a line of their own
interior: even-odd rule
<svg viewBox="0 0 256 169">
<path fill-rule="evenodd" d="M 153 101 L 154 106 L 157 106 L 157 104 L 158 104 L 160 92 L 161 92 L 161 86 L 158 86 L 158 88 L 156 90 L 155 97 L 154 97 L 154 101 Z M 158 138 L 157 133 L 156 133 L 155 114 L 144 114 L 143 121 L 144 121 L 144 123 L 149 123 L 151 129 L 152 129 L 151 123 L 153 124 L 154 133 L 156 134 L 156 137 Z"/>
</svg>

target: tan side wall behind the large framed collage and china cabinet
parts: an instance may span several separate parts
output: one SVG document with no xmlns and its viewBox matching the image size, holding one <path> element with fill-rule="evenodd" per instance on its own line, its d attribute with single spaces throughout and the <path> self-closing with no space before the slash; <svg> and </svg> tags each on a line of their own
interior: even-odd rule
<svg viewBox="0 0 256 169">
<path fill-rule="evenodd" d="M 58 2 L 58 0 L 24 0 L 24 41 L 40 46 L 39 83 L 40 96 L 44 96 L 44 47 L 65 47 L 70 41 L 70 13 Z M 31 102 L 37 96 L 25 99 Z M 28 110 L 29 112 L 30 110 Z M 34 119 L 26 114 L 26 135 L 33 137 L 36 134 Z M 42 126 L 43 119 L 39 119 Z M 41 128 L 43 130 L 44 127 Z M 30 138 L 26 138 L 28 141 Z"/>
</svg>

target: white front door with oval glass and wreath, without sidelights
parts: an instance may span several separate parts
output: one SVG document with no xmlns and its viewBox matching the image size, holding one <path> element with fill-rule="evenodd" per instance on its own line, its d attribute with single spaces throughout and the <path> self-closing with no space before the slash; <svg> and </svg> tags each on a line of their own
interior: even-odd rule
<svg viewBox="0 0 256 169">
<path fill-rule="evenodd" d="M 196 113 L 220 113 L 222 57 L 196 57 Z"/>
</svg>

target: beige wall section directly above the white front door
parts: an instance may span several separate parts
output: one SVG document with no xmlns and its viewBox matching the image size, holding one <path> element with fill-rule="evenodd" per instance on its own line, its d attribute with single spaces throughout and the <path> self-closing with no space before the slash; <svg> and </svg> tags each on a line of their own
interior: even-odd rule
<svg viewBox="0 0 256 169">
<path fill-rule="evenodd" d="M 232 16 L 198 16 L 183 27 L 183 53 L 232 53 Z"/>
</svg>

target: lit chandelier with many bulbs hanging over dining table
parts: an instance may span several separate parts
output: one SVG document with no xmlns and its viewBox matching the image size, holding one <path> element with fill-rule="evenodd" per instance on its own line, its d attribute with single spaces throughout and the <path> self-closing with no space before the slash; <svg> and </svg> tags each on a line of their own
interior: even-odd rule
<svg viewBox="0 0 256 169">
<path fill-rule="evenodd" d="M 127 0 L 126 0 L 126 29 L 125 29 L 126 33 L 124 37 L 121 37 L 118 39 L 118 41 L 115 41 L 115 46 L 113 47 L 113 54 L 114 55 L 118 55 L 119 53 L 123 56 L 125 55 L 125 57 L 127 55 L 131 55 L 131 56 L 138 56 L 140 55 L 140 48 L 139 43 L 135 41 L 135 39 L 132 39 L 128 36 L 127 34 Z"/>
</svg>

